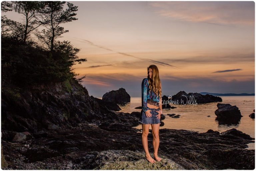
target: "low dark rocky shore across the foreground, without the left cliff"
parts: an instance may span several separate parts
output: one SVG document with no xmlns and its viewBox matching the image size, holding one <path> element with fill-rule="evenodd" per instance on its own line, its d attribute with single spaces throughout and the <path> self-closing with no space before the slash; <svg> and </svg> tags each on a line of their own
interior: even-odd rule
<svg viewBox="0 0 256 171">
<path fill-rule="evenodd" d="M 109 131 L 96 124 L 80 123 L 71 129 L 47 131 L 46 137 L 18 143 L 2 140 L 5 169 L 254 169 L 253 142 L 249 135 L 232 129 L 226 133 L 208 130 L 160 129 L 159 157 L 149 163 L 144 158 L 141 130 Z M 151 131 L 151 130 L 150 130 Z M 148 135 L 153 152 L 152 134 Z M 153 154 L 152 154 L 153 156 Z M 3 169 L 3 168 L 2 168 Z"/>
</svg>

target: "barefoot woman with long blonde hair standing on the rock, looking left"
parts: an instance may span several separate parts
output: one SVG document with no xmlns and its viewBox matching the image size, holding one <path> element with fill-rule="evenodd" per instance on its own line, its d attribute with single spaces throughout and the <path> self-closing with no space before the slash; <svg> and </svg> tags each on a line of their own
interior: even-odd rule
<svg viewBox="0 0 256 171">
<path fill-rule="evenodd" d="M 159 147 L 160 116 L 162 114 L 162 85 L 157 66 L 150 65 L 147 70 L 148 78 L 143 79 L 141 84 L 142 110 L 140 112 L 139 122 L 142 124 L 141 139 L 145 150 L 145 158 L 149 162 L 154 163 L 161 160 L 161 158 L 157 156 L 157 151 Z M 149 125 L 151 125 L 152 128 L 155 160 L 150 156 L 148 151 Z"/>
</svg>

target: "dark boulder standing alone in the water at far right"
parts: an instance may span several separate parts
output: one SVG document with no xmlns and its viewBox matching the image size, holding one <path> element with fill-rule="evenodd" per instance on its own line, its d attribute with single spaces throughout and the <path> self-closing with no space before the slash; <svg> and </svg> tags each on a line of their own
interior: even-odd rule
<svg viewBox="0 0 256 171">
<path fill-rule="evenodd" d="M 218 109 L 215 110 L 218 120 L 239 120 L 242 115 L 238 107 L 230 104 L 218 103 Z"/>
</svg>

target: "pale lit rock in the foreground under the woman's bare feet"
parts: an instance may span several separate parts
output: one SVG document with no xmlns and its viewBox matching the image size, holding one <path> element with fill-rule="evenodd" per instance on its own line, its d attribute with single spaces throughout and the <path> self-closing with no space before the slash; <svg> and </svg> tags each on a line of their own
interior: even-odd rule
<svg viewBox="0 0 256 171">
<path fill-rule="evenodd" d="M 161 161 L 153 164 L 146 160 L 144 152 L 107 150 L 90 152 L 84 159 L 88 161 L 85 169 L 93 168 L 93 170 L 185 170 L 165 156 L 158 155 L 158 157 L 162 158 Z"/>
</svg>

